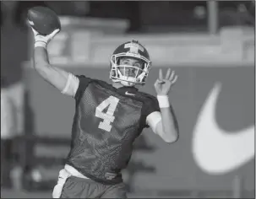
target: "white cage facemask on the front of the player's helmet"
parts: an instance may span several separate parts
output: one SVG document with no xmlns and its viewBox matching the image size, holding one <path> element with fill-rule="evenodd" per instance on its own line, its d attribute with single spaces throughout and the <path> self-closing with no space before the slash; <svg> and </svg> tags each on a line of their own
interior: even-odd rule
<svg viewBox="0 0 256 199">
<path fill-rule="evenodd" d="M 143 62 L 142 67 L 120 65 L 120 60 L 123 57 L 138 59 L 140 62 Z M 112 82 L 122 83 L 123 86 L 144 85 L 149 74 L 149 69 L 150 61 L 144 56 L 133 53 L 119 53 L 111 56 L 110 78 Z"/>
</svg>

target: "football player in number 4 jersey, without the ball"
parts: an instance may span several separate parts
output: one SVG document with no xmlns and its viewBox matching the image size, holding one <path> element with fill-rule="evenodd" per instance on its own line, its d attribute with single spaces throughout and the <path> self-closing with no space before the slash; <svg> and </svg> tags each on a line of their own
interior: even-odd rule
<svg viewBox="0 0 256 199">
<path fill-rule="evenodd" d="M 150 127 L 166 143 L 177 141 L 177 120 L 168 100 L 177 75 L 168 69 L 164 78 L 160 70 L 156 98 L 139 92 L 137 87 L 144 85 L 151 62 L 148 51 L 136 40 L 113 52 L 112 84 L 68 73 L 48 60 L 46 46 L 58 31 L 40 35 L 33 30 L 35 70 L 76 104 L 70 152 L 52 196 L 126 198 L 121 171 L 143 129 Z"/>
</svg>

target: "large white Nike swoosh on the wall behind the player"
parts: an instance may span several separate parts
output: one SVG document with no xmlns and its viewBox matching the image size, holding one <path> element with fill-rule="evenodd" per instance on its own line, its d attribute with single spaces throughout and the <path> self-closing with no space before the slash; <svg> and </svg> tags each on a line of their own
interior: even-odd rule
<svg viewBox="0 0 256 199">
<path fill-rule="evenodd" d="M 216 123 L 215 107 L 220 91 L 218 83 L 205 100 L 193 129 L 193 157 L 210 174 L 230 172 L 254 157 L 254 126 L 228 133 Z"/>
</svg>

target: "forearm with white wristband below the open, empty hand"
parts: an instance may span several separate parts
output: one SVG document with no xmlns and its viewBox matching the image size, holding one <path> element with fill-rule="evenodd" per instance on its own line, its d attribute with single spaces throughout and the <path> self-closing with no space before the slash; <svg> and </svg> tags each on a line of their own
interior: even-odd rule
<svg viewBox="0 0 256 199">
<path fill-rule="evenodd" d="M 161 136 L 168 143 L 173 143 L 178 139 L 178 124 L 177 118 L 175 116 L 174 110 L 172 109 L 172 105 L 167 102 L 168 98 L 166 97 L 166 107 L 161 107 Z M 158 98 L 161 100 L 161 98 Z M 160 102 L 161 106 L 161 102 Z"/>
</svg>

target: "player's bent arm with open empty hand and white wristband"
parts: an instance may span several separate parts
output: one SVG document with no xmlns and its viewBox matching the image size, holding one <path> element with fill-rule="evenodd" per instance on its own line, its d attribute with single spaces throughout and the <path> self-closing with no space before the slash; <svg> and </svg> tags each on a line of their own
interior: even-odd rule
<svg viewBox="0 0 256 199">
<path fill-rule="evenodd" d="M 177 118 L 168 98 L 168 93 L 176 80 L 177 75 L 173 71 L 171 73 L 171 69 L 168 69 L 166 78 L 162 78 L 160 70 L 159 78 L 155 81 L 160 111 L 154 111 L 146 118 L 146 122 L 153 132 L 158 134 L 166 143 L 174 143 L 179 137 Z"/>
</svg>

